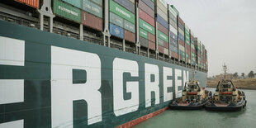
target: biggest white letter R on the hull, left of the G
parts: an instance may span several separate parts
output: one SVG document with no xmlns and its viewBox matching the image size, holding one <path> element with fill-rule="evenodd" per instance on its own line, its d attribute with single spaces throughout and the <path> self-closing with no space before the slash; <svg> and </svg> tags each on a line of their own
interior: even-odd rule
<svg viewBox="0 0 256 128">
<path fill-rule="evenodd" d="M 73 83 L 73 69 L 87 72 L 86 83 Z M 73 101 L 88 103 L 88 125 L 102 121 L 101 60 L 96 54 L 51 47 L 52 127 L 73 127 Z"/>
</svg>

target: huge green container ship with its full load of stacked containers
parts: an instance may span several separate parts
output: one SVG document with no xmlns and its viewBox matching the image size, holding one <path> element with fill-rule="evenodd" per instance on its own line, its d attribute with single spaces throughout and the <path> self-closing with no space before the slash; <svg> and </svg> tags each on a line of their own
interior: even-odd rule
<svg viewBox="0 0 256 128">
<path fill-rule="evenodd" d="M 207 51 L 165 0 L 0 2 L 0 127 L 130 127 L 182 96 Z"/>
</svg>

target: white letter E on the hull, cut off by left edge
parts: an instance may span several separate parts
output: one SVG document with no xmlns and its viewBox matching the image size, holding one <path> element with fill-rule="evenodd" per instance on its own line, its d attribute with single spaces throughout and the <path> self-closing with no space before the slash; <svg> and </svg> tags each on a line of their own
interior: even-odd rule
<svg viewBox="0 0 256 128">
<path fill-rule="evenodd" d="M 25 41 L 0 36 L 0 64 L 24 66 Z M 0 105 L 24 102 L 24 79 L 0 79 Z M 23 120 L 0 124 L 0 128 L 23 127 Z"/>
</svg>

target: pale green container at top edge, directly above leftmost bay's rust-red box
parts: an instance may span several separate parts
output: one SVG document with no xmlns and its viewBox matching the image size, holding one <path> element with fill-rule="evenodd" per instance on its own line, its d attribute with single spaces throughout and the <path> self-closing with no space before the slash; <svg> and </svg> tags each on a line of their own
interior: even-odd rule
<svg viewBox="0 0 256 128">
<path fill-rule="evenodd" d="M 83 10 L 102 18 L 102 7 L 89 0 L 83 0 Z"/>
</svg>

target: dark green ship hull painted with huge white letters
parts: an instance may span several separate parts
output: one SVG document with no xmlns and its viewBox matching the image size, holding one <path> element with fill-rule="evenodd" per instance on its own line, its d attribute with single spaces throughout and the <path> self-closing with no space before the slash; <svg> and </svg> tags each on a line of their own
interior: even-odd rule
<svg viewBox="0 0 256 128">
<path fill-rule="evenodd" d="M 180 97 L 191 69 L 0 21 L 0 127 L 115 127 Z M 196 78 L 206 86 L 206 73 Z"/>
</svg>

